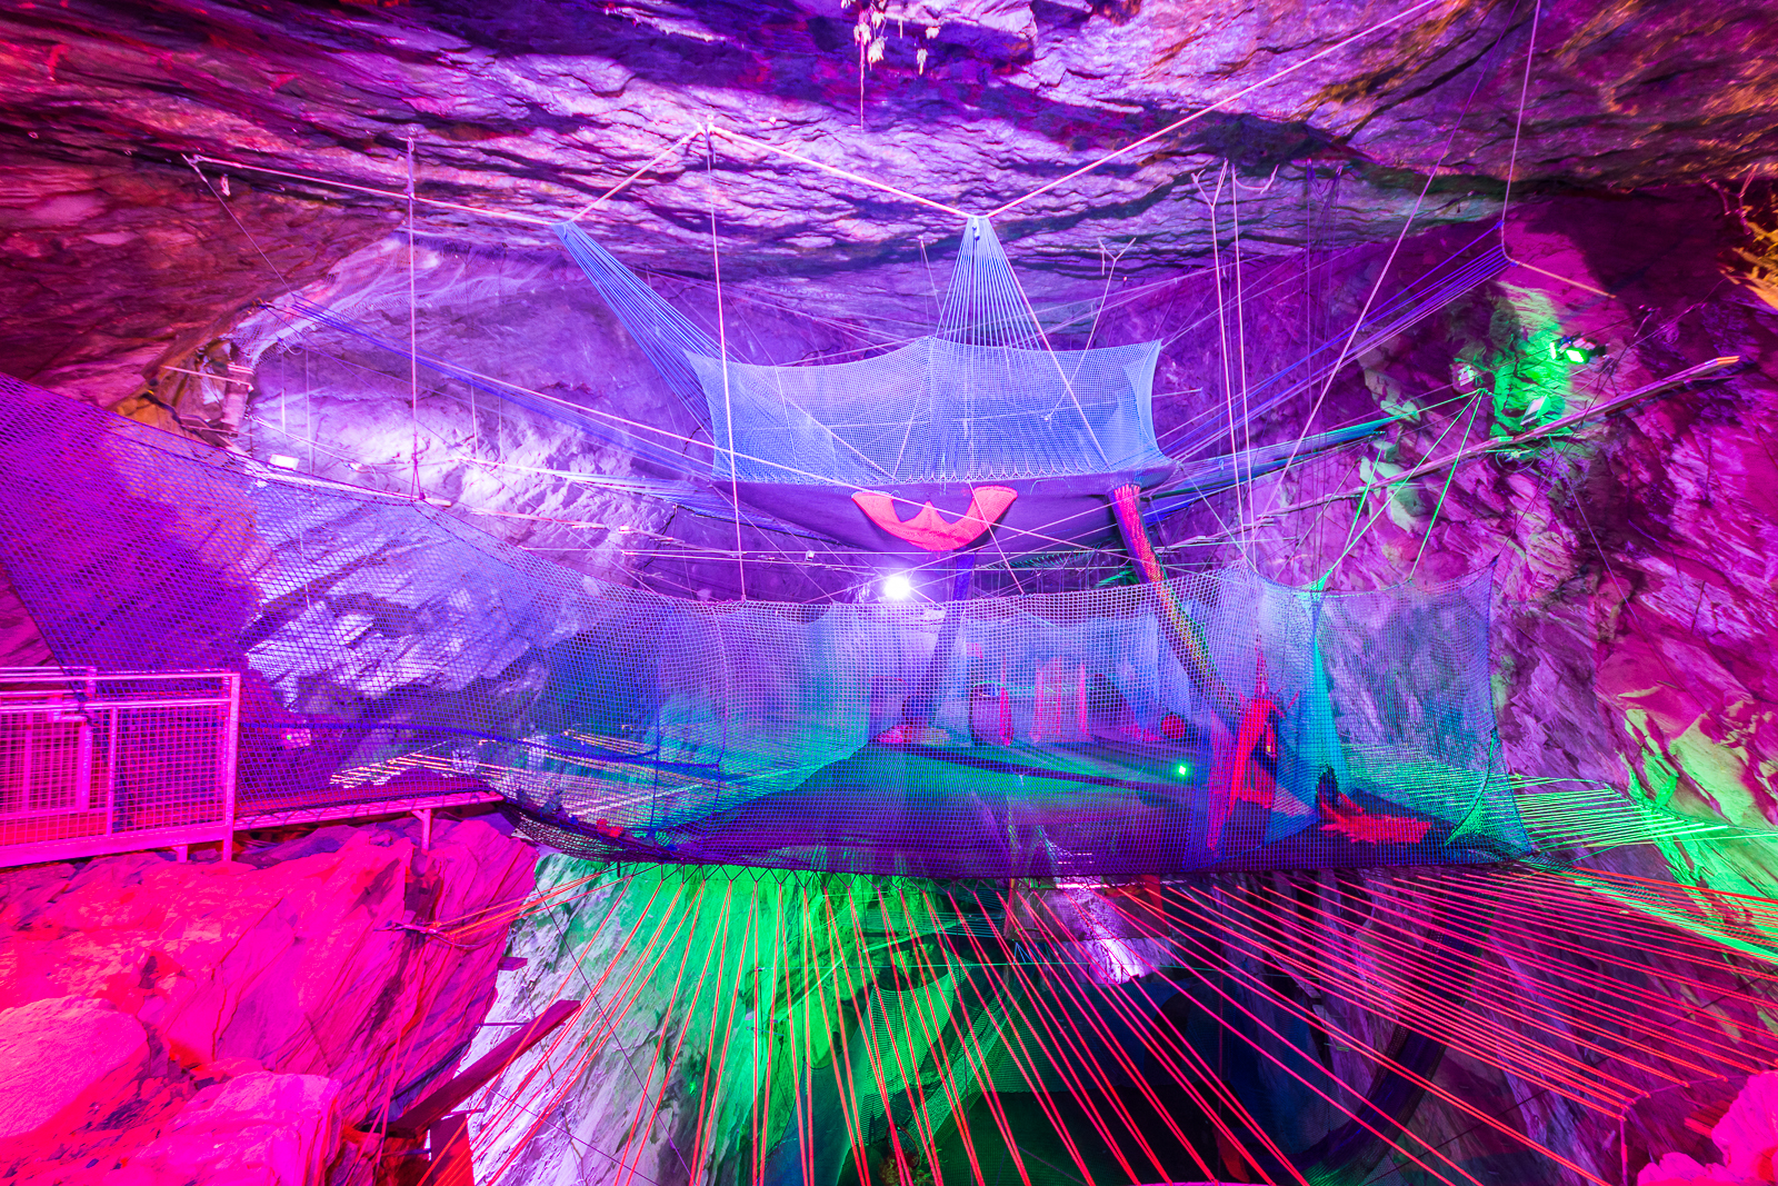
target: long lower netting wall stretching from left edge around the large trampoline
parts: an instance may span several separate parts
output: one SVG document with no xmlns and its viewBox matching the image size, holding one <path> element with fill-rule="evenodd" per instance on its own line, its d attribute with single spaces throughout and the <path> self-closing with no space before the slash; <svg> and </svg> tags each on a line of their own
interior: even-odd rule
<svg viewBox="0 0 1778 1186">
<path fill-rule="evenodd" d="M 46 642 L 68 665 L 245 672 L 244 814 L 432 773 L 484 781 L 562 848 L 656 861 L 1117 877 L 1526 848 L 1481 580 L 681 601 L 0 393 L 0 551 Z"/>
</svg>

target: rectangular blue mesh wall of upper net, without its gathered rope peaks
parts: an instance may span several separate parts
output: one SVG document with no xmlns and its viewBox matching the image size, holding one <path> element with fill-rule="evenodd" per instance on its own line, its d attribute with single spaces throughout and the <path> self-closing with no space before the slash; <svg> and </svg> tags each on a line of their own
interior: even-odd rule
<svg viewBox="0 0 1778 1186">
<path fill-rule="evenodd" d="M 692 366 L 709 398 L 718 477 L 869 489 L 1168 466 L 1150 413 L 1157 350 L 921 338 L 829 366 Z"/>
</svg>

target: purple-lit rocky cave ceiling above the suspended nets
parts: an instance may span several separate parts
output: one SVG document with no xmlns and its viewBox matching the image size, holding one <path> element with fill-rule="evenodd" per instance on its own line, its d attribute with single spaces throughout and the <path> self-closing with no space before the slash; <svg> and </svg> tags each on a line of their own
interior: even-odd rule
<svg viewBox="0 0 1778 1186">
<path fill-rule="evenodd" d="M 1730 183 L 1778 144 L 1769 7 L 1543 7 L 1533 28 L 1511 0 L 14 4 L 0 370 L 128 397 L 405 217 L 215 162 L 402 190 L 409 137 L 423 197 L 587 212 L 628 261 L 690 272 L 715 219 L 733 277 L 814 281 L 942 251 L 957 219 L 709 128 L 971 212 L 1065 178 L 997 222 L 1022 268 L 1076 276 L 1179 267 L 1234 219 L 1252 251 L 1486 222 L 1508 178 L 1527 201 Z M 1309 178 L 1334 174 L 1335 208 L 1307 217 Z M 548 244 L 450 206 L 418 222 Z"/>
</svg>

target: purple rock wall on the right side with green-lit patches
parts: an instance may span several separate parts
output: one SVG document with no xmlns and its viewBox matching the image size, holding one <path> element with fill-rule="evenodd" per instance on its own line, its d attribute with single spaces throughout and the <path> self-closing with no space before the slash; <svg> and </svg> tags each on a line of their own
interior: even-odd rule
<svg viewBox="0 0 1778 1186">
<path fill-rule="evenodd" d="M 1332 589 L 1492 564 L 1513 770 L 1629 784 L 1767 830 L 1778 823 L 1778 685 L 1753 656 L 1778 637 L 1778 309 L 1721 265 L 1739 238 L 1734 206 L 1709 190 L 1522 212 L 1508 242 L 1529 267 L 1360 359 L 1373 407 L 1412 404 L 1371 453 L 1371 480 L 1399 471 L 1385 464 L 1504 437 L 1710 357 L 1742 363 L 1559 441 L 1389 487 L 1387 500 L 1277 517 L 1250 548 L 1262 571 L 1291 583 L 1326 576 Z M 1550 365 L 1563 341 L 1597 350 Z M 1348 407 L 1357 395 L 1348 388 Z M 1543 407 L 1526 420 L 1533 400 Z M 1355 489 L 1366 480 L 1357 462 L 1305 469 L 1259 509 Z"/>
</svg>

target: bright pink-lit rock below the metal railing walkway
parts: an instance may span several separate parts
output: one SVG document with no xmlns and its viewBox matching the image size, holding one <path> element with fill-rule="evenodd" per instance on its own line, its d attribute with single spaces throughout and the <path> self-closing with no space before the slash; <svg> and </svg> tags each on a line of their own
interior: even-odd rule
<svg viewBox="0 0 1778 1186">
<path fill-rule="evenodd" d="M 494 1001 L 533 862 L 498 821 L 0 871 L 0 1175 L 368 1182 Z"/>
</svg>

